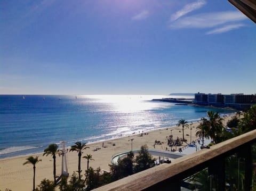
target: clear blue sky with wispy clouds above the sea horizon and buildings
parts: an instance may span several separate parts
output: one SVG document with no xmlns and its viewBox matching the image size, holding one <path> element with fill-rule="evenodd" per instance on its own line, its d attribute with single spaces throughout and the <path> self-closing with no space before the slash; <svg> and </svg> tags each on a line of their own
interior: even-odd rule
<svg viewBox="0 0 256 191">
<path fill-rule="evenodd" d="M 228 1 L 0 1 L 0 94 L 256 93 Z"/>
</svg>

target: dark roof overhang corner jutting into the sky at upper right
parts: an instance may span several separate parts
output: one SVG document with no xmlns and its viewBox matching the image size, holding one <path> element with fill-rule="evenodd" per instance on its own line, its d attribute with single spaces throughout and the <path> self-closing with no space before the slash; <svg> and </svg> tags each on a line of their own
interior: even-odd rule
<svg viewBox="0 0 256 191">
<path fill-rule="evenodd" d="M 239 11 L 256 23 L 256 0 L 228 0 Z"/>
</svg>

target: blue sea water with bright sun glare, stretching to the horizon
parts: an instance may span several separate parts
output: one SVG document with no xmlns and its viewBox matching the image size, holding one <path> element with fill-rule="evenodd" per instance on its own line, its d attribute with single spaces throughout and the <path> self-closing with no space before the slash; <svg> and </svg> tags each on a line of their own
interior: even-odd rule
<svg viewBox="0 0 256 191">
<path fill-rule="evenodd" d="M 43 152 L 51 143 L 97 142 L 233 110 L 151 101 L 167 95 L 0 95 L 0 158 Z"/>
</svg>

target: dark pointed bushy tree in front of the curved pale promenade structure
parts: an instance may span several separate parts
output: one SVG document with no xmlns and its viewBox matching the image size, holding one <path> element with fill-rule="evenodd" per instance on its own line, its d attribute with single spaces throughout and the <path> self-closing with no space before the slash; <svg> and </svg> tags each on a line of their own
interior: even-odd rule
<svg viewBox="0 0 256 191">
<path fill-rule="evenodd" d="M 142 145 L 140 147 L 139 155 L 136 156 L 135 162 L 135 172 L 140 172 L 142 170 L 149 169 L 155 165 L 152 156 L 148 152 L 148 146 Z"/>
</svg>

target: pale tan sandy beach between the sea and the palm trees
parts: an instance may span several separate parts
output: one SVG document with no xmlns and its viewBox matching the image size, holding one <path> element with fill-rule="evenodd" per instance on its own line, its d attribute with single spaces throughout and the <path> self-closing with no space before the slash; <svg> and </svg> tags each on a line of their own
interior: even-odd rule
<svg viewBox="0 0 256 191">
<path fill-rule="evenodd" d="M 227 122 L 231 119 L 231 115 L 224 118 L 224 122 Z M 191 125 L 191 139 L 196 140 L 198 137 L 195 136 L 196 127 L 198 122 Z M 131 150 L 131 139 L 133 139 L 133 150 L 139 149 L 141 145 L 147 144 L 149 148 L 154 148 L 155 140 L 163 142 L 162 145 L 155 145 L 155 148 L 158 150 L 166 150 L 166 147 L 171 150 L 167 145 L 167 136 L 173 135 L 173 138 L 177 137 L 182 138 L 182 127 L 170 127 L 162 128 L 153 131 L 147 131 L 146 135 L 143 132 L 143 136 L 140 136 L 141 132 L 136 132 L 135 135 L 120 137 L 116 139 L 104 140 L 104 146 L 102 147 L 102 142 L 87 144 L 90 148 L 87 148 L 83 152 L 83 156 L 86 154 L 91 154 L 94 161 L 90 161 L 90 167 L 94 169 L 100 167 L 101 170 L 109 171 L 108 164 L 111 163 L 111 156 L 115 153 L 129 151 Z M 190 143 L 190 123 L 189 128 L 184 130 L 185 138 L 188 143 Z M 51 143 L 49 143 L 51 144 Z M 115 146 L 113 146 L 115 144 Z M 185 146 L 186 143 L 183 143 Z M 97 151 L 94 151 L 96 148 L 100 148 Z M 68 152 L 67 161 L 68 161 L 68 172 L 69 175 L 73 171 L 77 171 L 78 156 L 77 152 Z M 44 178 L 53 180 L 53 161 L 52 157 L 43 156 L 43 154 L 36 154 L 39 156 L 39 159 L 42 159 L 42 162 L 37 163 L 36 165 L 36 185 L 39 185 L 41 180 Z M 33 187 L 33 166 L 31 164 L 23 165 L 28 156 L 17 156 L 13 158 L 7 158 L 0 160 L 0 190 L 5 190 L 9 188 L 12 191 L 16 190 L 32 190 Z M 178 159 L 177 159 L 178 160 Z M 81 160 L 81 169 L 82 175 L 84 175 L 87 161 L 85 159 Z M 61 173 L 61 157 L 57 156 L 57 176 Z"/>
</svg>

